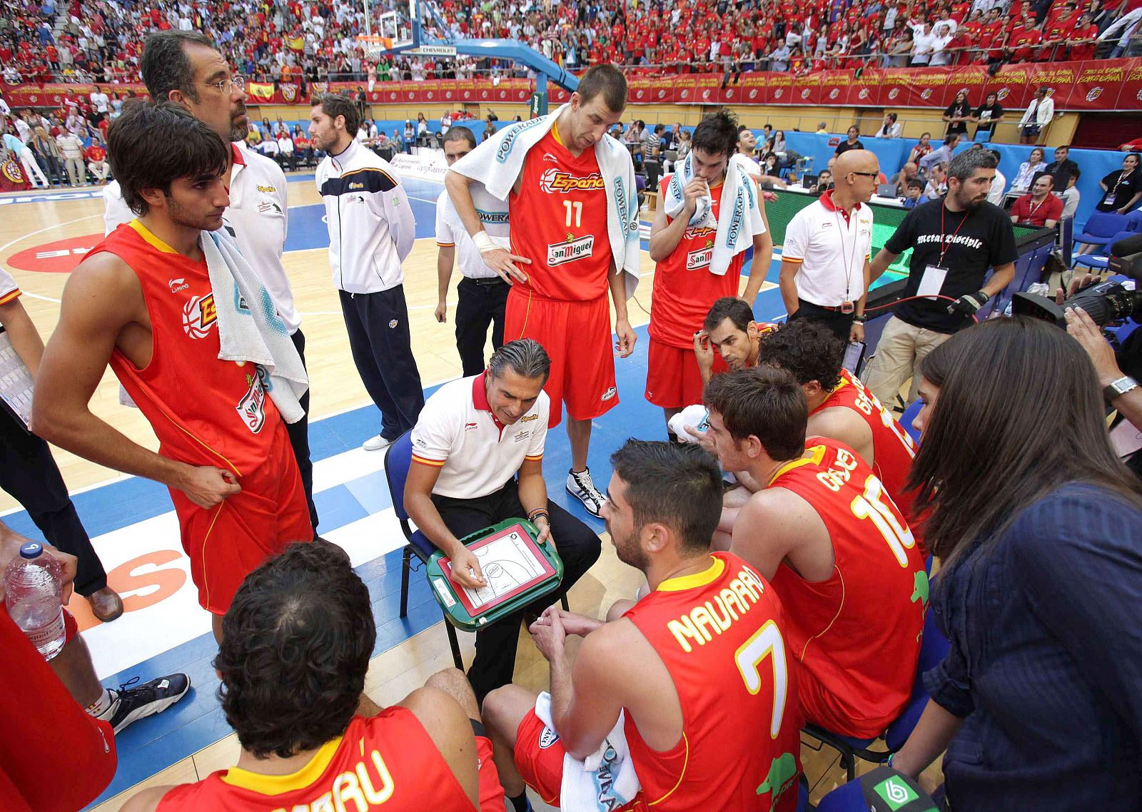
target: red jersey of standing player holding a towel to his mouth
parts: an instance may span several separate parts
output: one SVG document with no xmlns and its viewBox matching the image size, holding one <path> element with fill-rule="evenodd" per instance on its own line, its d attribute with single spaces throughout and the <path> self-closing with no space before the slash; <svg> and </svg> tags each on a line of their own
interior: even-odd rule
<svg viewBox="0 0 1142 812">
<path fill-rule="evenodd" d="M 659 200 L 666 200 L 666 187 L 673 175 L 659 185 Z M 710 188 L 714 216 L 717 217 L 725 184 Z M 666 218 L 670 223 L 670 218 Z M 650 337 L 671 347 L 694 346 L 694 333 L 710 306 L 724 296 L 737 296 L 745 251 L 730 262 L 725 274 L 710 273 L 716 228 L 686 228 L 674 254 L 654 266 L 653 306 L 650 314 Z"/>
</svg>

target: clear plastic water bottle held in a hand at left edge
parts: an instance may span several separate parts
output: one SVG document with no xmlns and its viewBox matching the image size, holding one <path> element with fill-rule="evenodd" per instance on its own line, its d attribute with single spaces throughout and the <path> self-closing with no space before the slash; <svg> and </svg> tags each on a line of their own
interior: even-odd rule
<svg viewBox="0 0 1142 812">
<path fill-rule="evenodd" d="M 30 541 L 3 576 L 8 616 L 46 660 L 64 648 L 62 574 L 59 562 L 43 554 L 43 545 Z"/>
</svg>

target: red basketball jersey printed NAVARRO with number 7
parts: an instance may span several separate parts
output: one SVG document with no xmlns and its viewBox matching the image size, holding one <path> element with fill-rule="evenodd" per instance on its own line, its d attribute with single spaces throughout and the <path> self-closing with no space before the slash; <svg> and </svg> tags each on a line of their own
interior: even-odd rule
<svg viewBox="0 0 1142 812">
<path fill-rule="evenodd" d="M 714 553 L 705 572 L 664 581 L 624 617 L 682 705 L 682 740 L 665 753 L 626 716 L 642 801 L 657 812 L 793 810 L 802 716 L 774 589 L 738 556 Z"/>
</svg>

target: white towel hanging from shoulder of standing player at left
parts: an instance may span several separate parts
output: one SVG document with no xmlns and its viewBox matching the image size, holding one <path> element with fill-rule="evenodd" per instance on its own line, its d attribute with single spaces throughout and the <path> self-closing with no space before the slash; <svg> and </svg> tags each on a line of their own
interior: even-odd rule
<svg viewBox="0 0 1142 812">
<path fill-rule="evenodd" d="M 218 357 L 258 364 L 265 371 L 262 384 L 282 419 L 297 423 L 305 413 L 299 399 L 309 388 L 309 378 L 286 322 L 236 242 L 203 232 L 201 244 L 218 313 Z"/>
</svg>

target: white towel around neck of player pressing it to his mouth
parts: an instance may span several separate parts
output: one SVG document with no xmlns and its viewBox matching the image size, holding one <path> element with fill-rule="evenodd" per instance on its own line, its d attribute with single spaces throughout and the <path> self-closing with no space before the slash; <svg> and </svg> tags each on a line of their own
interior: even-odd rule
<svg viewBox="0 0 1142 812">
<path fill-rule="evenodd" d="M 676 167 L 670 183 L 666 186 L 666 214 L 675 218 L 686 204 L 683 190 L 694 177 L 693 153 Z M 755 234 L 765 233 L 765 219 L 762 217 L 761 203 L 757 202 L 757 191 L 747 170 L 748 159 L 733 155 L 725 168 L 725 182 L 722 188 L 722 216 L 714 218 L 714 200 L 701 198 L 698 209 L 690 218 L 693 228 L 716 228 L 714 239 L 714 256 L 710 257 L 710 273 L 718 276 L 730 268 L 730 262 L 754 244 Z M 764 268 L 763 268 L 764 270 Z"/>
</svg>

